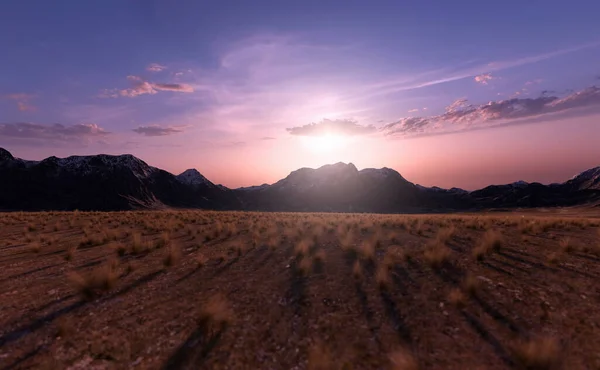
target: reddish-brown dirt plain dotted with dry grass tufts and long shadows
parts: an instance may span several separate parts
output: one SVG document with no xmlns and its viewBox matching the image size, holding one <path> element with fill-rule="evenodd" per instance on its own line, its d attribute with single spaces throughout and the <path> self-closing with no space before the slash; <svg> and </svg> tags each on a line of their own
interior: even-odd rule
<svg viewBox="0 0 600 370">
<path fill-rule="evenodd" d="M 3 213 L 0 369 L 600 369 L 599 226 Z"/>
</svg>

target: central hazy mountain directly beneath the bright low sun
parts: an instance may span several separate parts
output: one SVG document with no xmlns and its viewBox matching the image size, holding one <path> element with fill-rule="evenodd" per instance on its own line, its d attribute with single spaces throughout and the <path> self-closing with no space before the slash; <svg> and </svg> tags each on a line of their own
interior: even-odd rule
<svg viewBox="0 0 600 370">
<path fill-rule="evenodd" d="M 247 209 L 272 211 L 415 211 L 437 208 L 441 199 L 421 192 L 393 169 L 358 171 L 354 164 L 342 162 L 301 168 L 273 185 L 236 193 Z"/>
</svg>

